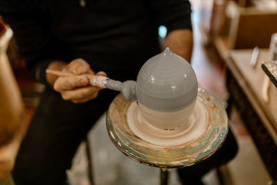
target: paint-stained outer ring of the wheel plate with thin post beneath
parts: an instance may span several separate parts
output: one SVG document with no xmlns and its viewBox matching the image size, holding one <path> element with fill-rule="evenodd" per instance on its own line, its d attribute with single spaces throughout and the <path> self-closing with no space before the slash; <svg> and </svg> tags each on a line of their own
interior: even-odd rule
<svg viewBox="0 0 277 185">
<path fill-rule="evenodd" d="M 207 113 L 206 126 L 202 134 L 190 141 L 168 146 L 141 139 L 127 123 L 127 111 L 132 103 L 125 100 L 122 94 L 116 96 L 109 106 L 107 132 L 116 148 L 124 155 L 141 164 L 161 168 L 161 184 L 166 185 L 169 168 L 192 166 L 207 159 L 220 148 L 228 132 L 226 112 L 214 96 L 199 88 L 197 102 Z"/>
</svg>

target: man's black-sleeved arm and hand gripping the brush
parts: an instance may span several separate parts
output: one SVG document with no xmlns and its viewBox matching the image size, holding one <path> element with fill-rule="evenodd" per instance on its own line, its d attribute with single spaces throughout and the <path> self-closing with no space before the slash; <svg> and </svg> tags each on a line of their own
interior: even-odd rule
<svg viewBox="0 0 277 185">
<path fill-rule="evenodd" d="M 84 60 L 69 61 L 67 47 L 52 33 L 51 17 L 47 10 L 33 3 L 39 1 L 0 1 L 0 15 L 14 31 L 26 67 L 36 80 L 53 87 L 64 100 L 83 103 L 96 98 L 100 89 L 88 86 L 89 82 L 84 76 L 57 78 L 46 75 L 46 69 L 69 71 L 76 75 L 94 73 Z"/>
</svg>

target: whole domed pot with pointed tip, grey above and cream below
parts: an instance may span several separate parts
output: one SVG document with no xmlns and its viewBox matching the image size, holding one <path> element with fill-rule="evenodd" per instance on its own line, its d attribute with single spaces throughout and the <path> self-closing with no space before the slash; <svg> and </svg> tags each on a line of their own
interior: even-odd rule
<svg viewBox="0 0 277 185">
<path fill-rule="evenodd" d="M 167 48 L 141 67 L 136 94 L 145 121 L 163 130 L 177 129 L 186 126 L 195 107 L 197 78 L 190 64 Z"/>
</svg>

